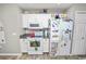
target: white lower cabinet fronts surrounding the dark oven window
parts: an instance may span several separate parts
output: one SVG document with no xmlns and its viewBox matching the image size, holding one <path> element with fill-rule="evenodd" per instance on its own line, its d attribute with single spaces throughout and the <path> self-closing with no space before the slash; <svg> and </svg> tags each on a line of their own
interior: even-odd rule
<svg viewBox="0 0 86 64">
<path fill-rule="evenodd" d="M 40 47 L 37 47 L 35 51 L 34 47 L 30 47 L 29 40 L 20 39 L 21 41 L 21 52 L 28 52 L 28 54 L 42 54 L 42 52 L 49 52 L 49 39 L 40 40 Z"/>
</svg>

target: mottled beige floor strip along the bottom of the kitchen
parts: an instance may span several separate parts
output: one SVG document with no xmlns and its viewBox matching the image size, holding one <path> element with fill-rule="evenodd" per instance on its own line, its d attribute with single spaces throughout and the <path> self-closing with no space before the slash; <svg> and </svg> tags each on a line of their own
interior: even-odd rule
<svg viewBox="0 0 86 64">
<path fill-rule="evenodd" d="M 86 55 L 67 55 L 67 56 L 50 56 L 49 54 L 42 55 L 0 55 L 0 60 L 86 60 Z"/>
</svg>

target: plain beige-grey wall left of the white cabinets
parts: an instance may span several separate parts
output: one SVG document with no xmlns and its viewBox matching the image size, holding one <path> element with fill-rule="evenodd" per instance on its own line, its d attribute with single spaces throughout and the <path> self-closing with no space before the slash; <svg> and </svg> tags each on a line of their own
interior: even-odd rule
<svg viewBox="0 0 86 64">
<path fill-rule="evenodd" d="M 22 33 L 21 10 L 14 4 L 0 5 L 0 20 L 3 22 L 7 43 L 0 53 L 19 53 L 20 34 Z M 15 33 L 16 35 L 12 35 Z"/>
</svg>

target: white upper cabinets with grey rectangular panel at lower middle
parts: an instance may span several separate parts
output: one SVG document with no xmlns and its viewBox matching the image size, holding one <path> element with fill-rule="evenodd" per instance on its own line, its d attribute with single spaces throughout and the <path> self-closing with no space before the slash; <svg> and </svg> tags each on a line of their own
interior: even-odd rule
<svg viewBox="0 0 86 64">
<path fill-rule="evenodd" d="M 48 28 L 51 14 L 22 14 L 23 28 Z"/>
</svg>

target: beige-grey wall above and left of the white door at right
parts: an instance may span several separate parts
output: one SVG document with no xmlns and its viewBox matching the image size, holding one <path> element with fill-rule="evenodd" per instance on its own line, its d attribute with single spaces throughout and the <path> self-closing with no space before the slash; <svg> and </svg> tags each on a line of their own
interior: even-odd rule
<svg viewBox="0 0 86 64">
<path fill-rule="evenodd" d="M 86 11 L 86 4 L 84 3 L 73 4 L 66 11 L 67 17 L 74 20 L 75 11 Z"/>
</svg>

